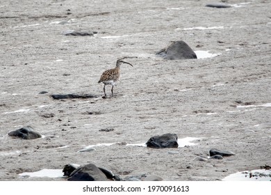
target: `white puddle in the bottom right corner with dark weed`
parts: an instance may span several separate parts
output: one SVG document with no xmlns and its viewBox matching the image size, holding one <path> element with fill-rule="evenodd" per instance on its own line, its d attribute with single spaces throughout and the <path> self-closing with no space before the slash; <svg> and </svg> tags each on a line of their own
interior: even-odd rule
<svg viewBox="0 0 271 195">
<path fill-rule="evenodd" d="M 227 176 L 222 181 L 271 181 L 271 170 L 240 171 Z"/>
</svg>

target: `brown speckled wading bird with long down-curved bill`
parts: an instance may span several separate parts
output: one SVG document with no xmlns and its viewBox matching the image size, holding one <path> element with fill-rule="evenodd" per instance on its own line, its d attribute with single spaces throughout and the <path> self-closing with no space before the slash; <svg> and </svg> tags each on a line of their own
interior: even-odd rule
<svg viewBox="0 0 271 195">
<path fill-rule="evenodd" d="M 106 70 L 101 74 L 101 78 L 98 81 L 99 83 L 104 83 L 104 97 L 106 98 L 106 85 L 111 85 L 111 93 L 113 95 L 113 88 L 115 83 L 118 81 L 118 79 L 120 79 L 120 65 L 122 63 L 127 63 L 129 65 L 131 65 L 131 63 L 128 63 L 126 61 L 123 61 L 123 59 L 117 59 L 117 63 L 116 63 L 116 67 Z M 131 65 L 133 66 L 133 65 Z"/>
</svg>

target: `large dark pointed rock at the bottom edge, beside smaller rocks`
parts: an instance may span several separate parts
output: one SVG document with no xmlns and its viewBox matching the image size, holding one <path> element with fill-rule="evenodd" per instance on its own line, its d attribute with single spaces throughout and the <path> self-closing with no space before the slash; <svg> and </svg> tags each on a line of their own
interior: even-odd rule
<svg viewBox="0 0 271 195">
<path fill-rule="evenodd" d="M 69 181 L 106 181 L 106 175 L 95 164 L 86 164 L 75 169 Z"/>
</svg>

